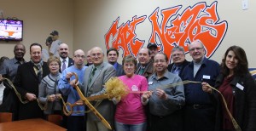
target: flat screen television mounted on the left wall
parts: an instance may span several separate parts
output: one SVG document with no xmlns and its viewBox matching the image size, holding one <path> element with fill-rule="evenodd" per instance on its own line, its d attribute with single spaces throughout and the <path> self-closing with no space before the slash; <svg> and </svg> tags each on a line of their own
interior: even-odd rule
<svg viewBox="0 0 256 131">
<path fill-rule="evenodd" d="M 23 20 L 0 20 L 0 40 L 22 41 Z"/>
</svg>

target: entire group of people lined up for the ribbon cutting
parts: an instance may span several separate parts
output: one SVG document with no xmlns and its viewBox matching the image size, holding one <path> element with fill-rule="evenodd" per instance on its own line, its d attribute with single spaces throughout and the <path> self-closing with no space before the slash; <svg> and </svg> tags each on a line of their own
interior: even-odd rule
<svg viewBox="0 0 256 131">
<path fill-rule="evenodd" d="M 24 45 L 17 44 L 14 53 L 15 58 L 5 60 L 0 67 L 0 74 L 15 84 L 23 101 L 18 101 L 13 89 L 5 88 L 0 111 L 10 106 L 6 104 L 9 100 L 16 101 L 9 108 L 15 114 L 14 120 L 63 115 L 63 99 L 76 103 L 73 113 L 63 119 L 67 130 L 108 131 L 89 108 L 78 102 L 79 93 L 74 87 L 78 86 L 85 97 L 106 94 L 105 83 L 118 77 L 129 90 L 124 98 L 91 101 L 114 130 L 256 130 L 256 85 L 248 71 L 246 53 L 238 46 L 227 49 L 220 65 L 205 57 L 200 40 L 189 44 L 191 62 L 185 59 L 183 47 L 172 48 L 170 65 L 168 56 L 158 51 L 156 43 L 140 48 L 137 59 L 131 54 L 125 56 L 121 64 L 117 48 L 108 48 L 106 62 L 99 47 L 91 48 L 87 54 L 82 49 L 75 50 L 70 58 L 66 43 L 58 44 L 58 56 L 49 54 L 47 62 L 42 59 L 39 43 L 31 44 L 28 62 L 23 59 Z M 78 82 L 73 72 L 78 75 Z M 47 105 L 44 111 L 37 100 Z M 67 106 L 69 111 L 70 108 Z"/>
</svg>

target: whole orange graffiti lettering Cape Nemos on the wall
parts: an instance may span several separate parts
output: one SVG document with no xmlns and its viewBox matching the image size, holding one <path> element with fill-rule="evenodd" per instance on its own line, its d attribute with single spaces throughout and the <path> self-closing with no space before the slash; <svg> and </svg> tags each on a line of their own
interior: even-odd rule
<svg viewBox="0 0 256 131">
<path fill-rule="evenodd" d="M 171 50 L 179 45 L 189 52 L 189 44 L 200 39 L 205 44 L 206 57 L 210 58 L 224 39 L 228 23 L 220 20 L 217 11 L 217 1 L 210 6 L 207 3 L 196 3 L 193 7 L 182 10 L 182 5 L 169 9 L 155 9 L 148 20 L 152 25 L 148 43 L 158 43 L 160 51 L 171 58 Z M 180 12 L 180 13 L 178 13 Z M 161 16 L 161 20 L 160 19 Z M 147 16 L 134 16 L 131 21 L 118 26 L 119 18 L 113 22 L 105 35 L 106 48 L 122 49 L 124 54 L 137 56 L 138 50 L 146 40 L 137 38 L 136 26 L 143 24 Z M 147 44 L 147 43 L 145 43 Z"/>
</svg>

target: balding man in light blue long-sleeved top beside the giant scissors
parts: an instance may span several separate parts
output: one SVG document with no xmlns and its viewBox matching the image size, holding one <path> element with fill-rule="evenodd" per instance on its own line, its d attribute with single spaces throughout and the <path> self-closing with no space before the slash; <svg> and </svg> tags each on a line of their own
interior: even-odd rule
<svg viewBox="0 0 256 131">
<path fill-rule="evenodd" d="M 74 65 L 62 71 L 61 79 L 58 83 L 61 93 L 67 97 L 67 102 L 72 104 L 80 99 L 77 90 L 73 88 L 74 77 L 72 72 L 75 72 L 78 75 L 79 83 L 83 83 L 85 69 L 87 68 L 87 66 L 84 66 L 84 59 L 84 51 L 82 49 L 76 50 L 73 54 Z M 70 83 L 68 83 L 68 79 L 70 79 Z M 69 108 L 69 106 L 67 108 Z M 67 130 L 85 130 L 84 122 L 84 105 L 74 106 L 73 114 L 67 117 Z"/>
</svg>

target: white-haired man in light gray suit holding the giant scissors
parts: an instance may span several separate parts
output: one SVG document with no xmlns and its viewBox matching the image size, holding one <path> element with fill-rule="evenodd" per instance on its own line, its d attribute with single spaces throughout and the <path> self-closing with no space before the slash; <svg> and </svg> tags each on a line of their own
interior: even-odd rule
<svg viewBox="0 0 256 131">
<path fill-rule="evenodd" d="M 103 62 L 104 54 L 102 48 L 91 48 L 90 57 L 93 65 L 85 69 L 84 73 L 84 96 L 93 96 L 105 93 L 103 85 L 110 77 L 115 77 L 116 71 L 113 65 Z M 96 102 L 92 102 L 95 105 Z M 102 100 L 102 103 L 96 107 L 96 110 L 102 114 L 113 126 L 113 103 L 109 100 Z M 90 131 L 108 131 L 102 122 L 93 114 L 88 113 L 86 119 L 86 128 Z"/>
</svg>

